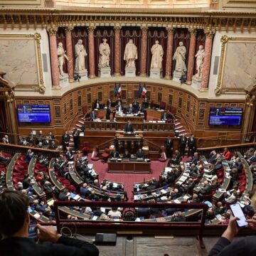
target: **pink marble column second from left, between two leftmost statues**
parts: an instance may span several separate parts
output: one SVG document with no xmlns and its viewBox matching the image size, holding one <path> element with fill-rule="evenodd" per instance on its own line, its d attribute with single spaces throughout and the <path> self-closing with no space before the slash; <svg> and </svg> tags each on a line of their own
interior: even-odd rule
<svg viewBox="0 0 256 256">
<path fill-rule="evenodd" d="M 72 48 L 72 38 L 71 33 L 73 27 L 69 26 L 65 28 L 65 43 L 68 55 L 68 80 L 74 82 L 74 65 L 73 65 L 73 48 Z"/>
</svg>

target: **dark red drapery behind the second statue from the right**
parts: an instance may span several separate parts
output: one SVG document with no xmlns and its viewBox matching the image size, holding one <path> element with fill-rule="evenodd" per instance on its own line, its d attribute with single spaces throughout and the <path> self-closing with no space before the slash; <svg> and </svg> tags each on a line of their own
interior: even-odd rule
<svg viewBox="0 0 256 256">
<path fill-rule="evenodd" d="M 187 28 L 177 28 L 174 33 L 174 51 L 175 53 L 176 48 L 178 47 L 178 43 L 183 42 L 183 46 L 186 47 L 186 68 L 188 68 L 188 55 L 189 55 L 189 43 L 190 43 L 190 33 L 188 33 Z M 171 56 L 173 58 L 173 56 Z M 174 73 L 176 60 L 173 60 L 172 67 L 171 67 L 171 74 Z"/>
</svg>

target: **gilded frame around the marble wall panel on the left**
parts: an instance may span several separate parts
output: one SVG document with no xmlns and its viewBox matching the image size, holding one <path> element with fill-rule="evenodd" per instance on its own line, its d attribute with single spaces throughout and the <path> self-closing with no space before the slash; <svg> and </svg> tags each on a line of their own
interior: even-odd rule
<svg viewBox="0 0 256 256">
<path fill-rule="evenodd" d="M 41 34 L 40 33 L 34 33 L 34 34 L 16 34 L 16 35 L 10 35 L 10 34 L 1 34 L 0 40 L 3 39 L 11 39 L 16 41 L 21 40 L 33 40 L 34 46 L 35 46 L 35 53 L 36 53 L 36 70 L 38 75 L 38 83 L 37 84 L 20 84 L 16 85 L 15 90 L 22 90 L 22 91 L 31 91 L 36 90 L 41 93 L 44 93 L 46 91 L 46 86 L 43 82 L 43 65 L 42 65 L 42 57 L 41 57 Z"/>
</svg>

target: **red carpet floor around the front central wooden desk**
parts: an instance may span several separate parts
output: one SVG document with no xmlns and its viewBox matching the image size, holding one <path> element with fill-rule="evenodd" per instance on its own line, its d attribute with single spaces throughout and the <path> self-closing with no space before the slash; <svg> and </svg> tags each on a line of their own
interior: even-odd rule
<svg viewBox="0 0 256 256">
<path fill-rule="evenodd" d="M 90 154 L 88 159 L 90 160 Z M 103 164 L 100 160 L 90 160 L 89 162 L 94 164 L 94 169 L 97 174 L 99 174 L 100 182 L 107 178 L 110 181 L 124 183 L 124 190 L 127 191 L 129 201 L 132 201 L 133 184 L 135 182 L 147 181 L 153 177 L 155 177 L 156 180 L 159 180 L 159 174 L 161 174 L 161 171 L 164 170 L 164 167 L 167 165 L 168 161 L 151 161 L 151 174 L 109 174 L 107 172 L 107 164 Z"/>
</svg>

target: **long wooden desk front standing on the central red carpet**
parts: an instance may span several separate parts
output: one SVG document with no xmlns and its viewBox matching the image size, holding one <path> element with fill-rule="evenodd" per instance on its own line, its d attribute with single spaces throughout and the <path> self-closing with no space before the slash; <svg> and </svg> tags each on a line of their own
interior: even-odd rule
<svg viewBox="0 0 256 256">
<path fill-rule="evenodd" d="M 109 173 L 137 173 L 137 174 L 151 174 L 151 162 L 145 161 L 108 161 Z"/>
</svg>

